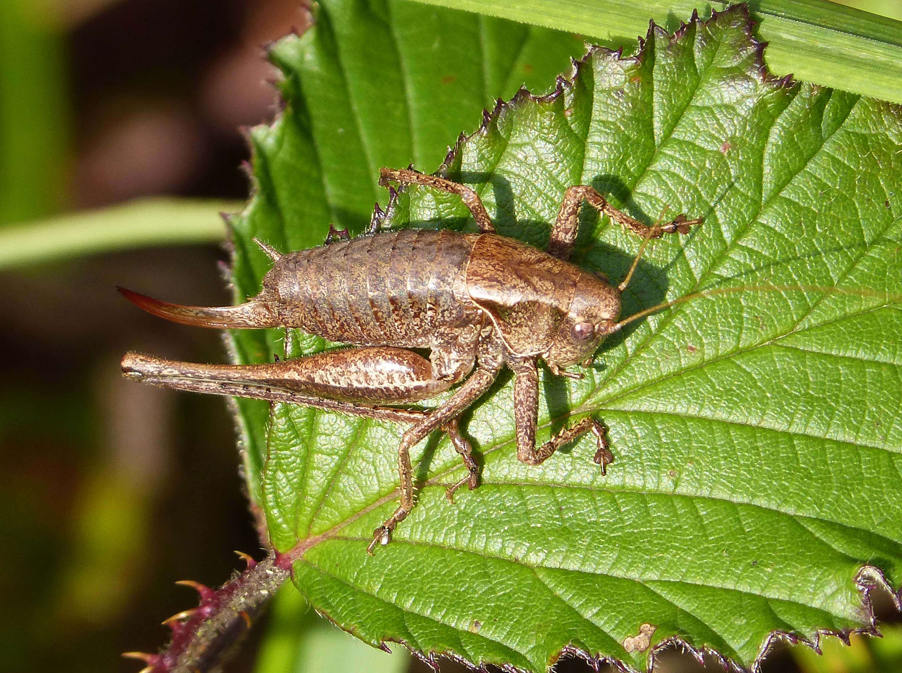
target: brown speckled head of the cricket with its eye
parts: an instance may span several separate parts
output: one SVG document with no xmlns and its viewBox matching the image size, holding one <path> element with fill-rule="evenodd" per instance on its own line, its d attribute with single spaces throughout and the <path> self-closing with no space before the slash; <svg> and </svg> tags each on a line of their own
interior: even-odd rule
<svg viewBox="0 0 902 673">
<path fill-rule="evenodd" d="M 543 355 L 553 369 L 592 357 L 604 337 L 617 331 L 620 290 L 592 273 L 580 273 L 566 316 Z"/>
</svg>

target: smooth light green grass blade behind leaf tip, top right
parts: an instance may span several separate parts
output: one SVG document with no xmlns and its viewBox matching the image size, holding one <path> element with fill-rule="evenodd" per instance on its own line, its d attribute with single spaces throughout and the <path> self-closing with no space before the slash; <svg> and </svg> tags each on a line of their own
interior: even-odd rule
<svg viewBox="0 0 902 673">
<path fill-rule="evenodd" d="M 618 44 L 644 33 L 649 17 L 676 30 L 677 17 L 731 5 L 727 0 L 418 1 Z M 766 60 L 773 72 L 902 103 L 902 22 L 827 0 L 755 0 L 750 7 L 759 37 L 769 44 Z"/>
</svg>

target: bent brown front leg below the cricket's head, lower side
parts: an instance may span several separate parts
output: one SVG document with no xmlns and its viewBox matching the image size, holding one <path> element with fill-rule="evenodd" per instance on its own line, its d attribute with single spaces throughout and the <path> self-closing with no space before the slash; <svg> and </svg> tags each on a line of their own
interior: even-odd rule
<svg viewBox="0 0 902 673">
<path fill-rule="evenodd" d="M 523 358 L 508 363 L 516 375 L 513 385 L 513 415 L 517 433 L 517 459 L 527 465 L 541 465 L 558 448 L 572 442 L 586 432 L 592 432 L 597 443 L 594 461 L 606 474 L 607 466 L 613 462 L 613 454 L 608 445 L 608 429 L 593 418 L 584 418 L 570 428 L 557 433 L 541 447 L 536 447 L 536 426 L 538 424 L 538 371 L 535 358 Z"/>
</svg>

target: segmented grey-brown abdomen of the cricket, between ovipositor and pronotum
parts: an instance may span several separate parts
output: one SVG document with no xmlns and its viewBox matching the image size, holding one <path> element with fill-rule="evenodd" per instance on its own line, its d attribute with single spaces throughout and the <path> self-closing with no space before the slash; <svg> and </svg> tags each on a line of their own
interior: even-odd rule
<svg viewBox="0 0 902 673">
<path fill-rule="evenodd" d="M 477 235 L 400 229 L 284 255 L 279 294 L 291 324 L 361 346 L 429 346 L 479 312 L 466 292 Z"/>
</svg>

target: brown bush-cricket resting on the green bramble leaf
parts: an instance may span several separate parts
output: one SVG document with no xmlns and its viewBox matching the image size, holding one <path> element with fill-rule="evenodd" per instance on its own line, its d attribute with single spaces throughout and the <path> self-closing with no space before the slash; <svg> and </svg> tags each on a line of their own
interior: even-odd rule
<svg viewBox="0 0 902 673">
<path fill-rule="evenodd" d="M 373 533 L 368 551 L 388 544 L 391 532 L 413 507 L 410 448 L 444 429 L 463 458 L 468 475 L 448 489 L 478 483 L 478 467 L 456 419 L 494 381 L 502 367 L 516 375 L 514 420 L 517 457 L 537 466 L 558 447 L 592 432 L 601 466 L 613 456 L 598 420 L 586 418 L 536 447 L 538 373 L 545 361 L 557 375 L 589 364 L 595 349 L 627 322 L 618 322 L 621 292 L 630 282 L 645 244 L 663 234 L 686 234 L 702 218 L 676 217 L 646 226 L 612 207 L 591 187 L 566 190 L 542 252 L 495 233 L 473 189 L 410 170 L 382 169 L 380 184 L 418 184 L 460 195 L 479 234 L 449 230 L 371 230 L 353 239 L 279 254 L 259 242 L 273 260 L 262 291 L 240 306 L 202 308 L 170 304 L 121 290 L 150 313 L 201 327 L 298 327 L 310 334 L 356 347 L 272 364 L 191 364 L 128 353 L 125 376 L 146 383 L 196 392 L 288 401 L 356 416 L 409 424 L 398 448 L 400 504 Z M 567 259 L 578 229 L 578 211 L 587 201 L 624 228 L 643 237 L 639 254 L 618 285 L 584 272 Z M 673 302 L 670 302 L 673 303 Z M 669 305 L 669 304 L 667 304 Z M 428 348 L 429 359 L 410 348 Z M 461 385 L 437 409 L 396 408 Z"/>
</svg>

